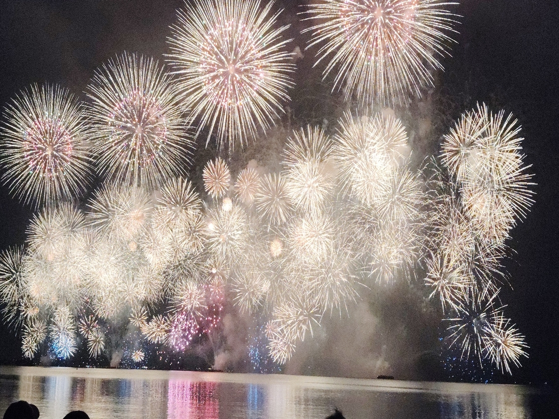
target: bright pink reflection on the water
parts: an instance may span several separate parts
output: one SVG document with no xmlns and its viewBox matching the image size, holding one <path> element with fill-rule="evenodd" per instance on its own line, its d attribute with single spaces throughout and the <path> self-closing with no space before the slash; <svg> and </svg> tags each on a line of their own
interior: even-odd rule
<svg viewBox="0 0 559 419">
<path fill-rule="evenodd" d="M 216 383 L 170 379 L 167 418 L 219 419 Z"/>
</svg>

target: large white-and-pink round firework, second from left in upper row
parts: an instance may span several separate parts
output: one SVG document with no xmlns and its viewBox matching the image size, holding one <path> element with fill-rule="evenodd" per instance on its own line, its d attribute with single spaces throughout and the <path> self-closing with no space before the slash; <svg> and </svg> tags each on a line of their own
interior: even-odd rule
<svg viewBox="0 0 559 419">
<path fill-rule="evenodd" d="M 176 89 L 157 61 L 124 54 L 94 74 L 91 140 L 101 173 L 133 185 L 159 185 L 181 173 L 190 145 Z"/>
</svg>

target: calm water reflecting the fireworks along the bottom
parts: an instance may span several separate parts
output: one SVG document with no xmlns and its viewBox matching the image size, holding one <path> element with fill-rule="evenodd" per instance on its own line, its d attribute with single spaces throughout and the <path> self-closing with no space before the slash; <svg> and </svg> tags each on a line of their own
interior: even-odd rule
<svg viewBox="0 0 559 419">
<path fill-rule="evenodd" d="M 101 418 L 347 419 L 554 417 L 542 393 L 516 385 L 144 370 L 0 367 L 0 415 L 18 399 L 41 419 L 71 410 Z"/>
</svg>

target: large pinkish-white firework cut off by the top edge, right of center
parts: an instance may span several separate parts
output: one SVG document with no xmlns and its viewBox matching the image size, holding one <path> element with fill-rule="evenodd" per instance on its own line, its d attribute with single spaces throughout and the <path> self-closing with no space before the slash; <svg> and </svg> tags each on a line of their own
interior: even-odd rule
<svg viewBox="0 0 559 419">
<path fill-rule="evenodd" d="M 438 58 L 448 54 L 454 26 L 445 0 L 320 0 L 307 14 L 316 20 L 310 45 L 320 45 L 324 76 L 360 104 L 405 103 L 433 85 Z"/>
</svg>

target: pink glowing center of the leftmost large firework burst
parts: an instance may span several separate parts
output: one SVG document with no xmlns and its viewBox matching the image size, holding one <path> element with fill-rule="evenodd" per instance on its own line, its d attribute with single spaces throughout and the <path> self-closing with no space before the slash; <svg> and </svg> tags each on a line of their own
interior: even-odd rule
<svg viewBox="0 0 559 419">
<path fill-rule="evenodd" d="M 72 159 L 72 135 L 58 120 L 36 120 L 24 136 L 24 159 L 31 172 L 39 170 L 46 177 L 54 177 Z"/>
</svg>

